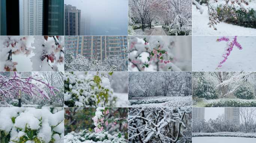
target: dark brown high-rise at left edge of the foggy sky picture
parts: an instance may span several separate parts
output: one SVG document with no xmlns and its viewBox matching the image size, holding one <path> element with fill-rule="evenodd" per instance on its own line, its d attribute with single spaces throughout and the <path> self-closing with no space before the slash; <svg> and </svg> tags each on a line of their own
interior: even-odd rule
<svg viewBox="0 0 256 143">
<path fill-rule="evenodd" d="M 81 35 L 81 10 L 70 4 L 65 9 L 65 35 Z"/>
</svg>

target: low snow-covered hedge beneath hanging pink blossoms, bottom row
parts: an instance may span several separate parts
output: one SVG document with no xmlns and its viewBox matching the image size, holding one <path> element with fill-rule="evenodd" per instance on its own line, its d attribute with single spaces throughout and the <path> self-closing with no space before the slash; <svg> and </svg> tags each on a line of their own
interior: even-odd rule
<svg viewBox="0 0 256 143">
<path fill-rule="evenodd" d="M 108 131 L 94 133 L 92 130 L 72 131 L 64 137 L 64 143 L 127 143 L 121 133 L 109 134 Z"/>
</svg>

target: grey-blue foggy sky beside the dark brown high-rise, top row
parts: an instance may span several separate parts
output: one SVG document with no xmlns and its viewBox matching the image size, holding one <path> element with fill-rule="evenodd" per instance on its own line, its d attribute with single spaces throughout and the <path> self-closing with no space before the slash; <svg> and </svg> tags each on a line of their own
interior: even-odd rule
<svg viewBox="0 0 256 143">
<path fill-rule="evenodd" d="M 104 32 L 113 27 L 122 29 L 118 35 L 128 35 L 128 0 L 65 0 L 65 4 L 80 9 L 82 17 L 91 16 L 91 32 L 106 35 Z"/>
</svg>

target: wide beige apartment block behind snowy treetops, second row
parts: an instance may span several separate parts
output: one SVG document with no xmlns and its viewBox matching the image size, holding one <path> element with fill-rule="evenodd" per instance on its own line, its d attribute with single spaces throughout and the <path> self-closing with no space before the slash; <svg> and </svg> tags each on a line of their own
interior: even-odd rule
<svg viewBox="0 0 256 143">
<path fill-rule="evenodd" d="M 65 36 L 65 50 L 74 55 L 83 55 L 89 60 L 95 56 L 97 60 L 107 57 L 125 59 L 127 39 L 128 36 Z"/>
</svg>

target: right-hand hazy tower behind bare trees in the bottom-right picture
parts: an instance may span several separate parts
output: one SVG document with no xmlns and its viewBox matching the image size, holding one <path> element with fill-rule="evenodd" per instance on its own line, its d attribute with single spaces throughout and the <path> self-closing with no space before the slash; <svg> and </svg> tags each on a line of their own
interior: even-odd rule
<svg viewBox="0 0 256 143">
<path fill-rule="evenodd" d="M 225 119 L 229 121 L 235 121 L 237 125 L 240 125 L 240 108 L 226 107 Z"/>
</svg>

